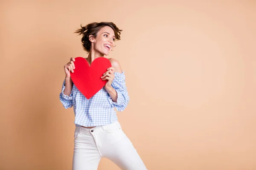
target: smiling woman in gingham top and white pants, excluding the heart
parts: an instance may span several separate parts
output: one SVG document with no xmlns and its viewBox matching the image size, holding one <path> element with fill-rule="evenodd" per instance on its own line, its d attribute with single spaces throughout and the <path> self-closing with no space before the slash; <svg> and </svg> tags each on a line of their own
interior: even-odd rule
<svg viewBox="0 0 256 170">
<path fill-rule="evenodd" d="M 89 65 L 94 59 L 109 54 L 121 31 L 114 23 L 90 23 L 75 33 L 82 34 Z M 75 134 L 73 170 L 96 170 L 102 157 L 113 161 L 122 170 L 146 170 L 131 141 L 122 131 L 116 111 L 123 111 L 129 102 L 125 74 L 116 59 L 109 59 L 112 67 L 102 75 L 105 86 L 89 100 L 76 88 L 70 71 L 76 71 L 74 58 L 64 65 L 66 77 L 60 100 L 64 108 L 73 107 Z"/>
</svg>

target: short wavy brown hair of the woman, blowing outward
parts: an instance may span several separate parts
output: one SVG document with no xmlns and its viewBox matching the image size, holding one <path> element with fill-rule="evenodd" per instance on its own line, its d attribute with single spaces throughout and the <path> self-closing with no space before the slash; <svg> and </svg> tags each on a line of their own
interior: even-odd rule
<svg viewBox="0 0 256 170">
<path fill-rule="evenodd" d="M 121 34 L 121 29 L 119 29 L 114 23 L 112 22 L 101 22 L 101 23 L 90 23 L 87 26 L 82 26 L 80 25 L 81 28 L 77 29 L 74 33 L 77 33 L 79 35 L 83 35 L 81 41 L 82 41 L 82 45 L 84 48 L 84 51 L 90 52 L 90 48 L 91 48 L 91 42 L 89 40 L 89 35 L 93 35 L 93 37 L 97 36 L 97 33 L 99 32 L 99 30 L 104 27 L 104 26 L 110 26 L 114 33 L 115 33 L 115 37 L 116 40 L 121 40 L 120 38 L 120 34 Z"/>
</svg>

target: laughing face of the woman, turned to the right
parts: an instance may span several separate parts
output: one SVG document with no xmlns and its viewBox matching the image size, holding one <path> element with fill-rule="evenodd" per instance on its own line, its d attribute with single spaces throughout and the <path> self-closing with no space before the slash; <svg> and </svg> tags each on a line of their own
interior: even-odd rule
<svg viewBox="0 0 256 170">
<path fill-rule="evenodd" d="M 111 49 L 114 46 L 114 42 L 116 40 L 114 31 L 109 26 L 102 27 L 96 37 L 89 37 L 91 38 L 91 44 L 93 50 L 97 51 L 101 55 L 108 55 Z"/>
</svg>

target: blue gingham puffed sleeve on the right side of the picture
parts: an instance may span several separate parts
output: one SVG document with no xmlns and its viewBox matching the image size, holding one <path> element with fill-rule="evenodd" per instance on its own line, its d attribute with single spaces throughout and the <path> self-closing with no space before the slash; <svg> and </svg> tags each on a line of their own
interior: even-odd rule
<svg viewBox="0 0 256 170">
<path fill-rule="evenodd" d="M 117 101 L 113 102 L 113 99 L 110 95 L 108 95 L 108 101 L 113 107 L 116 107 L 117 111 L 123 111 L 130 101 L 125 85 L 125 74 L 124 71 L 122 73 L 115 72 L 114 74 L 115 78 L 113 79 L 112 87 L 117 92 Z"/>
</svg>

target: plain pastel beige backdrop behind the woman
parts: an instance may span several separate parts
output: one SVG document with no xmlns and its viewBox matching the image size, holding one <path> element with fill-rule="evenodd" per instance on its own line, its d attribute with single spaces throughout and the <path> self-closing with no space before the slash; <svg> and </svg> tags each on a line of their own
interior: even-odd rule
<svg viewBox="0 0 256 170">
<path fill-rule="evenodd" d="M 123 29 L 118 117 L 148 170 L 256 169 L 256 1 L 1 0 L 0 17 L 0 170 L 71 170 L 63 66 L 101 21 Z"/>
</svg>

